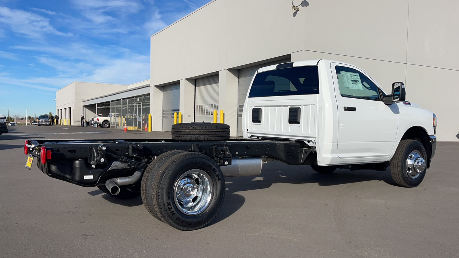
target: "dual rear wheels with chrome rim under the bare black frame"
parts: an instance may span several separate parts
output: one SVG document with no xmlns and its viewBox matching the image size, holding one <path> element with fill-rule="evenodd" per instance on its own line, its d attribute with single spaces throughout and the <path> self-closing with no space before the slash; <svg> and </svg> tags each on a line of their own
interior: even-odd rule
<svg viewBox="0 0 459 258">
<path fill-rule="evenodd" d="M 155 209 L 162 221 L 179 230 L 197 230 L 220 210 L 225 183 L 213 159 L 185 152 L 169 158 L 154 177 L 147 178 L 145 188 L 150 194 L 143 196 L 144 203 Z"/>
</svg>

